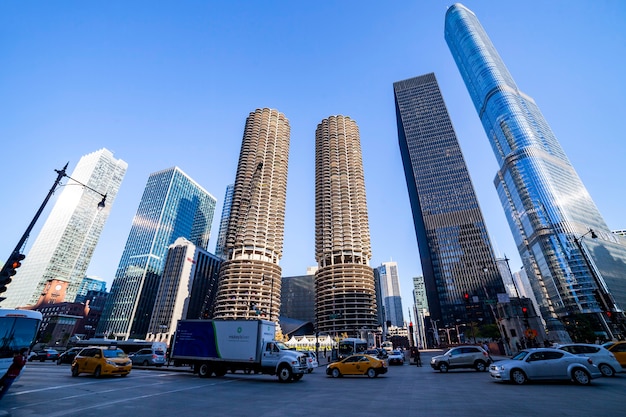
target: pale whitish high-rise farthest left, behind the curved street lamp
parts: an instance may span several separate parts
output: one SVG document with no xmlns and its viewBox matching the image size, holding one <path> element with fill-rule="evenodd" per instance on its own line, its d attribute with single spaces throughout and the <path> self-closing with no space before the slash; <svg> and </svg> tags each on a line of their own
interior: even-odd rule
<svg viewBox="0 0 626 417">
<path fill-rule="evenodd" d="M 109 218 L 128 164 L 107 149 L 83 156 L 63 186 L 23 266 L 4 294 L 4 308 L 34 304 L 51 279 L 68 282 L 66 299 L 74 301 L 91 256 Z M 106 205 L 98 207 L 106 194 Z"/>
</svg>

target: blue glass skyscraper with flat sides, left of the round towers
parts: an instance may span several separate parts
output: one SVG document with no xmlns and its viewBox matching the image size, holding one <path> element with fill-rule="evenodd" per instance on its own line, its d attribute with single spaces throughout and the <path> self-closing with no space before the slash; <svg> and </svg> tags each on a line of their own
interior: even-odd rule
<svg viewBox="0 0 626 417">
<path fill-rule="evenodd" d="M 216 199 L 178 167 L 148 178 L 97 333 L 118 339 L 148 331 L 167 248 L 179 237 L 205 248 Z"/>
</svg>

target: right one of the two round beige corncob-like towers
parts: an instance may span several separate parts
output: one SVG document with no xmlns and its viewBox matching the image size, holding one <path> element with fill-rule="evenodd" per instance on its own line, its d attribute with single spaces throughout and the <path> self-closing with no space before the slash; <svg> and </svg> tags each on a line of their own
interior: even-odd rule
<svg viewBox="0 0 626 417">
<path fill-rule="evenodd" d="M 315 131 L 315 314 L 323 332 L 378 327 L 361 140 L 346 116 Z"/>
</svg>

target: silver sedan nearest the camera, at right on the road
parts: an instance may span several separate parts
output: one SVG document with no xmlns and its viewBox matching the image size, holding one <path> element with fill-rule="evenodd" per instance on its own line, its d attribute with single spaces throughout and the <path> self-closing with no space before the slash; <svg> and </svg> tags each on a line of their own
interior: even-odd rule
<svg viewBox="0 0 626 417">
<path fill-rule="evenodd" d="M 553 348 L 521 350 L 511 359 L 492 364 L 489 374 L 495 381 L 518 385 L 534 380 L 573 380 L 589 385 L 592 379 L 602 376 L 590 358 Z"/>
</svg>

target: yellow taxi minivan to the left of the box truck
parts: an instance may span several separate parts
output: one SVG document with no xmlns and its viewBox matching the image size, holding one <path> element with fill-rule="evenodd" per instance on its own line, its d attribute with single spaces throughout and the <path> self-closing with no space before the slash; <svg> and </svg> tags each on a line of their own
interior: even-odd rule
<svg viewBox="0 0 626 417">
<path fill-rule="evenodd" d="M 96 378 L 102 375 L 126 376 L 133 363 L 122 349 L 115 346 L 90 346 L 81 350 L 72 362 L 72 376 L 83 373 Z"/>
</svg>

